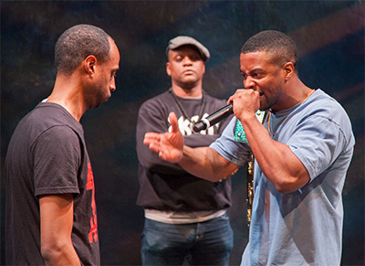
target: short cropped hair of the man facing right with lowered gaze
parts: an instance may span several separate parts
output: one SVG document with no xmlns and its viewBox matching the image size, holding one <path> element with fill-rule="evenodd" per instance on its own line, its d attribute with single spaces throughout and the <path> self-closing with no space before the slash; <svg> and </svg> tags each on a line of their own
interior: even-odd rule
<svg viewBox="0 0 365 266">
<path fill-rule="evenodd" d="M 79 64 L 95 56 L 100 63 L 110 59 L 111 38 L 99 27 L 81 24 L 68 28 L 57 40 L 55 65 L 57 74 L 71 75 Z"/>
</svg>

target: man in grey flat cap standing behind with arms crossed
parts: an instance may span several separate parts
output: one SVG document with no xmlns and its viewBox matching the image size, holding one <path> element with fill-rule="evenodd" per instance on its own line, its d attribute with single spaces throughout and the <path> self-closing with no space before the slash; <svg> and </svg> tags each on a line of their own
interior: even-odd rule
<svg viewBox="0 0 365 266">
<path fill-rule="evenodd" d="M 210 53 L 193 37 L 179 36 L 166 48 L 166 72 L 172 87 L 141 105 L 137 123 L 140 192 L 144 208 L 141 258 L 143 265 L 228 265 L 233 230 L 226 209 L 231 206 L 231 180 L 209 182 L 167 163 L 143 144 L 148 132 L 165 133 L 175 112 L 185 144 L 209 146 L 230 118 L 200 133 L 193 125 L 224 107 L 203 90 L 205 62 Z"/>
</svg>

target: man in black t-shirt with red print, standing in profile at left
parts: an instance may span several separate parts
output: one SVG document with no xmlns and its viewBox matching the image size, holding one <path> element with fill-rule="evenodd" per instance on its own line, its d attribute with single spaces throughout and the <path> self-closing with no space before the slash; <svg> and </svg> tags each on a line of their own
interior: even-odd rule
<svg viewBox="0 0 365 266">
<path fill-rule="evenodd" d="M 5 159 L 6 265 L 99 265 L 94 177 L 81 116 L 116 90 L 120 53 L 99 27 L 58 38 L 51 95 L 16 127 Z"/>
</svg>

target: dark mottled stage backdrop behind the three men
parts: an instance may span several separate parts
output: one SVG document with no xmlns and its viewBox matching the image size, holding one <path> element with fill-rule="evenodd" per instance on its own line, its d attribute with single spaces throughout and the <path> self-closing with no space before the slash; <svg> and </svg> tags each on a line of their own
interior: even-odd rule
<svg viewBox="0 0 365 266">
<path fill-rule="evenodd" d="M 364 265 L 364 3 L 362 1 L 16 1 L 1 6 L 1 173 L 17 122 L 49 95 L 57 37 L 80 23 L 105 29 L 120 48 L 117 90 L 81 120 L 96 182 L 103 265 L 141 264 L 143 211 L 135 151 L 137 112 L 167 90 L 165 48 L 189 35 L 210 49 L 203 88 L 227 99 L 242 88 L 240 48 L 276 29 L 294 37 L 299 74 L 349 113 L 357 144 L 343 191 L 343 265 Z M 1 262 L 4 264 L 4 178 L 1 179 Z M 245 168 L 233 177 L 235 231 L 231 265 L 247 242 Z"/>
</svg>

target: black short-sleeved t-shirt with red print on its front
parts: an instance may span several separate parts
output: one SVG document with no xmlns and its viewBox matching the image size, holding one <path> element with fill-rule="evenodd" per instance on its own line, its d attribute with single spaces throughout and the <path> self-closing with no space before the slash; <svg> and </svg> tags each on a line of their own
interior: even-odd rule
<svg viewBox="0 0 365 266">
<path fill-rule="evenodd" d="M 99 265 L 94 179 L 82 125 L 56 103 L 39 103 L 16 127 L 5 160 L 6 264 L 45 264 L 39 196 L 74 195 L 72 243 L 84 265 Z"/>
</svg>

